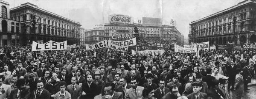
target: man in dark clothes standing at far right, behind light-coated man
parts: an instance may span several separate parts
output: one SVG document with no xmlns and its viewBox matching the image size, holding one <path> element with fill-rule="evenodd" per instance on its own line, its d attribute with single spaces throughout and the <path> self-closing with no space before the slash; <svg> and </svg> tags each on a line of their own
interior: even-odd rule
<svg viewBox="0 0 256 99">
<path fill-rule="evenodd" d="M 244 66 L 244 68 L 242 69 L 243 70 L 243 79 L 244 79 L 244 92 L 248 92 L 248 90 L 250 90 L 250 89 L 248 89 L 248 81 L 250 80 L 250 79 L 248 79 L 248 77 L 250 77 L 250 78 L 252 78 L 252 75 L 251 75 L 251 73 L 250 73 L 250 66 L 253 66 L 253 61 L 251 61 L 250 62 L 250 65 L 247 65 L 247 66 Z"/>
</svg>

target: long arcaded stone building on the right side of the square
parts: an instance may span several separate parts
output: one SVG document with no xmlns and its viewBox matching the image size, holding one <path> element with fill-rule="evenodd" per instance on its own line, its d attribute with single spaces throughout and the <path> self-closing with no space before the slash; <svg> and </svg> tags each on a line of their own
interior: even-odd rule
<svg viewBox="0 0 256 99">
<path fill-rule="evenodd" d="M 189 43 L 256 42 L 256 0 L 244 0 L 237 5 L 190 23 Z"/>
</svg>

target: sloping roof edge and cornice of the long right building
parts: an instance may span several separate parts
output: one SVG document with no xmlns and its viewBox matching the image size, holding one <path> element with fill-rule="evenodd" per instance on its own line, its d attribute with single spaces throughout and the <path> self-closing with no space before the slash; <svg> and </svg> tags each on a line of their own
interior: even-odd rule
<svg viewBox="0 0 256 99">
<path fill-rule="evenodd" d="M 196 22 L 200 22 L 200 21 L 202 21 L 202 20 L 204 20 L 204 19 L 207 19 L 207 18 L 212 17 L 212 16 L 216 16 L 216 15 L 218 15 L 218 14 L 224 13 L 225 11 L 229 11 L 229 10 L 231 10 L 231 9 L 237 8 L 237 7 L 239 7 L 239 6 L 241 6 L 241 5 L 244 5 L 244 4 L 247 4 L 247 3 L 256 3 L 256 0 L 244 0 L 244 1 L 238 3 L 237 5 L 232 6 L 232 7 L 230 7 L 230 8 L 227 8 L 227 9 L 224 9 L 224 10 L 219 11 L 219 12 L 217 12 L 217 13 L 214 13 L 214 14 L 212 14 L 212 15 L 206 16 L 206 17 L 204 17 L 204 18 L 202 18 L 202 19 L 198 19 L 198 20 L 196 20 L 196 21 L 192 21 L 190 24 L 193 24 L 193 23 L 196 23 Z"/>
</svg>

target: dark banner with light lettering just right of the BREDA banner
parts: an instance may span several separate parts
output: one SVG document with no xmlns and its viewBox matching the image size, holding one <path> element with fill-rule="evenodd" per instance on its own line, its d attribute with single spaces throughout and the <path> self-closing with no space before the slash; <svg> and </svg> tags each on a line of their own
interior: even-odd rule
<svg viewBox="0 0 256 99">
<path fill-rule="evenodd" d="M 155 43 L 147 43 L 145 41 L 137 44 L 137 51 L 143 50 L 157 50 L 157 42 Z"/>
</svg>

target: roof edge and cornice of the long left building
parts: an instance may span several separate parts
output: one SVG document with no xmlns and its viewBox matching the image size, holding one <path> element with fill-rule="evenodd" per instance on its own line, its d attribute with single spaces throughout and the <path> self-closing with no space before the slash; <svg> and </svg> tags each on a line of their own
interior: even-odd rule
<svg viewBox="0 0 256 99">
<path fill-rule="evenodd" d="M 60 18 L 62 18 L 62 19 L 67 19 L 67 18 L 65 18 L 65 17 L 63 17 L 63 16 L 60 16 L 60 15 L 58 15 L 58 14 L 55 14 L 55 13 L 52 13 L 52 12 L 50 12 L 50 11 L 44 10 L 44 9 L 42 9 L 42 8 L 39 8 L 37 5 L 34 5 L 34 4 L 32 4 L 32 3 L 24 3 L 24 4 L 21 4 L 20 6 L 17 6 L 17 7 L 15 7 L 15 8 L 11 8 L 10 11 L 11 11 L 11 10 L 15 10 L 15 9 L 17 9 L 17 8 L 24 7 L 24 6 L 30 6 L 30 7 L 32 7 L 32 8 L 35 8 L 35 9 L 44 11 L 44 12 L 46 12 L 46 13 L 48 13 L 48 14 L 52 14 L 52 15 L 54 15 L 54 16 L 60 17 Z M 73 21 L 73 20 L 71 20 L 71 19 L 67 19 L 67 20 L 70 21 L 70 22 L 75 22 L 75 23 L 77 23 L 77 24 L 80 24 L 79 22 Z"/>
</svg>

